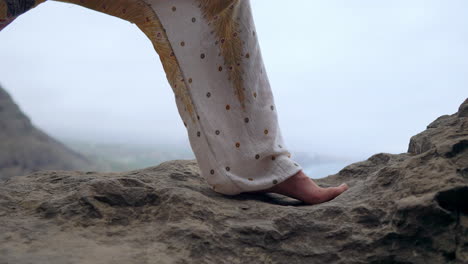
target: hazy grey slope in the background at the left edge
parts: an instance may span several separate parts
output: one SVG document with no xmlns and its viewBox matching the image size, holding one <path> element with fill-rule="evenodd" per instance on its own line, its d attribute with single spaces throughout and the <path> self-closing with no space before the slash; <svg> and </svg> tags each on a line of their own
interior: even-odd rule
<svg viewBox="0 0 468 264">
<path fill-rule="evenodd" d="M 0 87 L 0 179 L 44 169 L 91 168 L 96 168 L 91 161 L 34 127 Z"/>
</svg>

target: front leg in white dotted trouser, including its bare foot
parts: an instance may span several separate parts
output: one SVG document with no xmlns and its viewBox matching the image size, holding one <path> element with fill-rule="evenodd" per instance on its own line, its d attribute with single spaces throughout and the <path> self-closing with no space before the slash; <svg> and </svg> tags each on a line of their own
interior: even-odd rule
<svg viewBox="0 0 468 264">
<path fill-rule="evenodd" d="M 275 192 L 315 204 L 347 189 L 320 188 L 291 159 L 248 0 L 149 2 L 179 62 L 192 103 L 178 100 L 179 113 L 215 191 Z"/>
</svg>

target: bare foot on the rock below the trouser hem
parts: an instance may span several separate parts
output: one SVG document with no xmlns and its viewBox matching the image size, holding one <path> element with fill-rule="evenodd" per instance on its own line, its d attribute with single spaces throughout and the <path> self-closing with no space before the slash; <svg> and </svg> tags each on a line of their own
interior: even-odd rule
<svg viewBox="0 0 468 264">
<path fill-rule="evenodd" d="M 348 190 L 346 183 L 338 187 L 322 188 L 301 170 L 278 185 L 250 193 L 279 193 L 308 204 L 319 204 L 334 199 L 346 190 Z"/>
</svg>

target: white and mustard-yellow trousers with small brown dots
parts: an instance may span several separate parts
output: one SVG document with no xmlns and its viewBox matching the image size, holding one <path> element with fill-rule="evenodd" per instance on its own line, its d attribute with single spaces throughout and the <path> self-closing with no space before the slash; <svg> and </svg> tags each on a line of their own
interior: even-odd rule
<svg viewBox="0 0 468 264">
<path fill-rule="evenodd" d="M 128 20 L 148 36 L 214 191 L 263 190 L 302 169 L 281 135 L 249 0 L 61 1 Z M 43 1 L 19 2 L 0 0 L 0 30 Z"/>
</svg>

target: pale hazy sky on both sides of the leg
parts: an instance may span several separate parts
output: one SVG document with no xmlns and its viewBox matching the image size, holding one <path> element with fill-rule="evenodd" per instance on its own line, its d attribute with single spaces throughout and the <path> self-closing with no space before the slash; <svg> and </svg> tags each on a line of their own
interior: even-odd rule
<svg viewBox="0 0 468 264">
<path fill-rule="evenodd" d="M 292 150 L 367 158 L 468 95 L 466 0 L 251 0 Z M 0 83 L 53 136 L 185 142 L 159 57 L 135 25 L 47 2 L 0 33 Z"/>
</svg>

